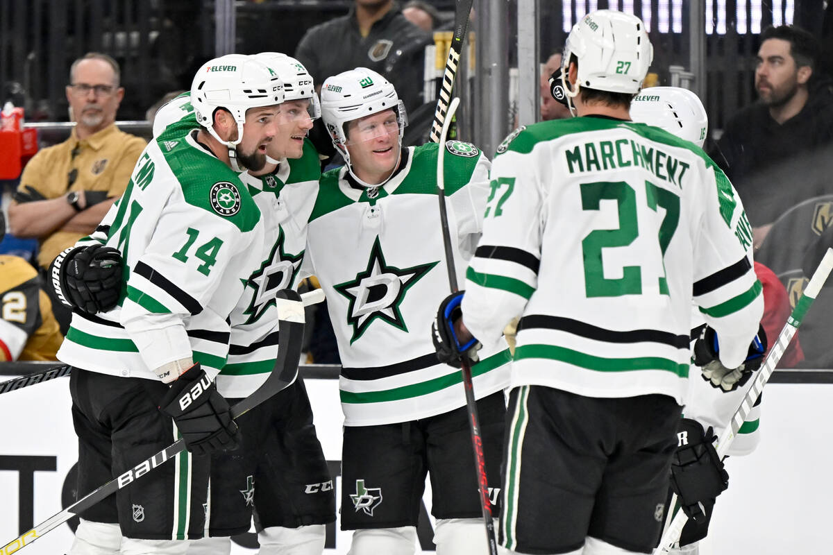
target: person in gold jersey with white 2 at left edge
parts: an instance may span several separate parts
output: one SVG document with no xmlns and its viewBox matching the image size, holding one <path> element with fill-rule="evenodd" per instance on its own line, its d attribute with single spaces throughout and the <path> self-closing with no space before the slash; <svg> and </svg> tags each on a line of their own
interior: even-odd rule
<svg viewBox="0 0 833 555">
<path fill-rule="evenodd" d="M 0 240 L 6 220 L 0 211 Z M 37 272 L 19 256 L 0 255 L 0 362 L 57 360 L 63 336 Z"/>
</svg>

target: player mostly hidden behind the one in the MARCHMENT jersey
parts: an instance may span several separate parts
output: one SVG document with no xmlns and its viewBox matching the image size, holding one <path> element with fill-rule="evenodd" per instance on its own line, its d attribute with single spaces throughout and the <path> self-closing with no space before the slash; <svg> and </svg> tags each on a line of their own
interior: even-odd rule
<svg viewBox="0 0 833 555">
<path fill-rule="evenodd" d="M 700 98 L 694 92 L 680 87 L 651 87 L 642 91 L 631 104 L 631 119 L 665 129 L 701 148 L 708 131 L 708 116 Z M 746 219 L 740 198 L 736 191 L 732 190 L 732 192 L 737 199 L 737 204 L 734 213 L 731 215 L 731 228 L 735 230 L 736 237 L 741 242 L 741 246 L 746 248 L 747 255 L 751 260 L 751 227 Z M 754 267 L 757 272 L 760 266 L 756 264 Z M 763 285 L 762 294 L 765 300 L 767 298 L 778 298 L 776 295 L 768 293 L 768 285 L 766 285 L 767 281 L 765 279 L 761 278 L 761 284 Z M 767 300 L 767 302 L 769 301 Z M 766 320 L 768 312 L 777 311 L 778 309 L 777 306 L 768 306 L 765 303 L 764 320 Z M 706 323 L 700 311 L 693 310 L 691 320 L 692 341 L 701 337 L 705 326 Z M 774 338 L 777 331 L 770 330 L 767 334 Z M 706 498 L 683 501 L 683 504 L 687 505 L 687 513 L 690 518 L 686 527 L 683 528 L 680 547 L 671 553 L 685 553 L 686 555 L 699 553 L 699 540 L 705 538 L 706 533 L 708 533 L 709 521 L 715 503 L 714 496 L 726 488 L 726 472 L 723 463 L 717 460 L 716 453 L 712 457 L 713 451 L 711 449 L 701 448 L 697 445 L 697 439 L 711 442 L 715 437 L 720 437 L 726 424 L 729 423 L 741 403 L 741 399 L 746 394 L 746 390 L 741 388 L 721 394 L 716 391 L 716 388 L 720 385 L 711 383 L 711 380 L 706 379 L 704 374 L 696 372 L 689 374 L 689 384 L 683 408 L 685 418 L 681 421 L 681 429 L 679 430 L 679 432 L 686 433 L 687 441 L 685 445 L 678 445 L 678 453 L 671 464 L 671 471 L 675 476 L 686 473 L 691 477 L 688 479 L 696 483 L 698 493 L 711 492 L 711 494 Z M 758 431 L 761 418 L 760 403 L 761 399 L 759 398 L 747 416 L 746 422 L 738 430 L 738 435 L 732 442 L 728 455 L 745 455 L 756 448 L 760 441 L 760 432 Z M 691 449 L 701 451 L 701 456 L 688 456 L 691 454 Z M 684 462 L 687 462 L 687 464 Z M 671 499 L 671 496 L 669 498 Z M 676 514 L 676 510 L 674 507 L 667 507 L 666 509 L 668 509 L 666 510 L 666 523 L 670 523 L 671 518 Z M 691 518 L 692 515 L 694 518 Z"/>
</svg>

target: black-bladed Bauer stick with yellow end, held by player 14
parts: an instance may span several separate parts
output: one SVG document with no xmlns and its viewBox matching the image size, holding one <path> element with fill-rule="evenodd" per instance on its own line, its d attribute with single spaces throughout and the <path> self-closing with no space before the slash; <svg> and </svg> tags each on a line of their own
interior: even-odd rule
<svg viewBox="0 0 833 555">
<path fill-rule="evenodd" d="M 323 293 L 319 294 L 315 291 L 305 294 L 309 295 L 307 297 L 298 295 L 294 290 L 282 290 L 278 295 L 277 310 L 281 325 L 277 338 L 278 351 L 275 366 L 272 369 L 272 374 L 269 374 L 267 380 L 254 393 L 232 407 L 232 417 L 235 419 L 292 384 L 292 380 L 295 379 L 295 374 L 297 373 L 298 362 L 301 359 L 301 345 L 304 335 L 303 306 L 307 304 L 307 300 L 312 302 L 320 302 L 323 300 Z M 283 302 L 280 300 L 281 297 L 285 299 Z M 157 466 L 167 462 L 167 460 L 174 458 L 177 453 L 184 450 L 185 441 L 178 439 L 175 443 L 162 449 L 162 451 L 156 453 L 151 458 L 143 460 L 133 468 L 120 474 L 117 478 L 113 478 L 100 488 L 92 491 L 92 493 L 88 493 L 85 497 L 72 503 L 72 505 L 63 509 L 60 513 L 52 515 L 51 518 L 37 524 L 35 528 L 13 539 L 0 548 L 0 553 L 15 553 L 18 549 L 25 548 L 43 534 L 57 528 L 70 518 L 92 507 L 103 498 L 106 498 L 112 493 L 116 493 L 119 489 L 126 488 L 137 478 L 141 478 L 142 475 L 150 472 L 153 468 L 157 468 Z"/>
</svg>

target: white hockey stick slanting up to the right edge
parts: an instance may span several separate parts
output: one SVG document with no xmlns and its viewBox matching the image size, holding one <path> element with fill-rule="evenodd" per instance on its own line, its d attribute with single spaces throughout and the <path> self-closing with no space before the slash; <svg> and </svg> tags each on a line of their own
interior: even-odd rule
<svg viewBox="0 0 833 555">
<path fill-rule="evenodd" d="M 717 450 L 717 455 L 721 458 L 721 460 L 726 458 L 726 453 L 729 451 L 729 447 L 735 440 L 738 430 L 741 429 L 741 426 L 746 420 L 746 416 L 749 415 L 756 399 L 758 399 L 758 396 L 761 395 L 761 390 L 764 389 L 766 382 L 769 381 L 772 372 L 776 369 L 776 365 L 778 364 L 778 361 L 781 360 L 781 355 L 784 354 L 787 345 L 790 344 L 792 336 L 796 334 L 796 331 L 798 331 L 798 327 L 801 325 L 801 320 L 804 320 L 804 315 L 806 315 L 807 310 L 810 309 L 810 305 L 813 304 L 813 301 L 816 300 L 816 295 L 819 294 L 821 286 L 825 285 L 825 281 L 827 280 L 827 276 L 830 275 L 831 270 L 833 270 L 833 249 L 827 249 L 824 258 L 822 258 L 819 263 L 819 267 L 816 268 L 815 272 L 813 272 L 810 282 L 805 287 L 804 294 L 801 295 L 801 299 L 799 299 L 796 303 L 796 308 L 792 310 L 790 317 L 786 320 L 784 329 L 781 330 L 780 334 L 778 334 L 776 343 L 772 345 L 770 354 L 766 356 L 766 360 L 764 360 L 764 364 L 761 364 L 761 369 L 758 371 L 755 379 L 752 380 L 751 385 L 748 389 L 746 389 L 746 394 L 743 396 L 743 399 L 741 399 L 740 406 L 735 411 L 735 414 L 732 415 L 731 420 L 726 426 L 726 429 L 723 430 L 721 437 L 717 439 L 715 448 Z M 674 519 L 671 521 L 671 525 L 669 525 L 668 528 L 666 528 L 665 533 L 662 534 L 659 547 L 657 547 L 654 551 L 656 555 L 661 553 L 671 553 L 671 549 L 673 549 L 675 544 L 680 541 L 680 534 L 682 533 L 682 528 L 686 525 L 687 520 L 688 517 L 686 516 L 686 513 L 682 512 L 682 510 L 676 513 Z"/>
</svg>

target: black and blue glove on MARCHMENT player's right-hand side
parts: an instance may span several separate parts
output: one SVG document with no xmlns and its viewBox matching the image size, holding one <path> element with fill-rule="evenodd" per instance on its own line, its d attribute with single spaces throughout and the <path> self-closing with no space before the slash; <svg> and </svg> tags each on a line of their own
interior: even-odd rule
<svg viewBox="0 0 833 555">
<path fill-rule="evenodd" d="M 694 357 L 692 362 L 703 370 L 703 379 L 711 387 L 719 388 L 723 393 L 734 391 L 749 381 L 752 372 L 761 368 L 766 353 L 766 333 L 763 326 L 758 326 L 758 334 L 749 345 L 746 360 L 737 368 L 726 368 L 721 364 L 718 354 L 720 344 L 717 334 L 710 326 L 703 328 L 700 337 L 694 343 Z"/>
</svg>

